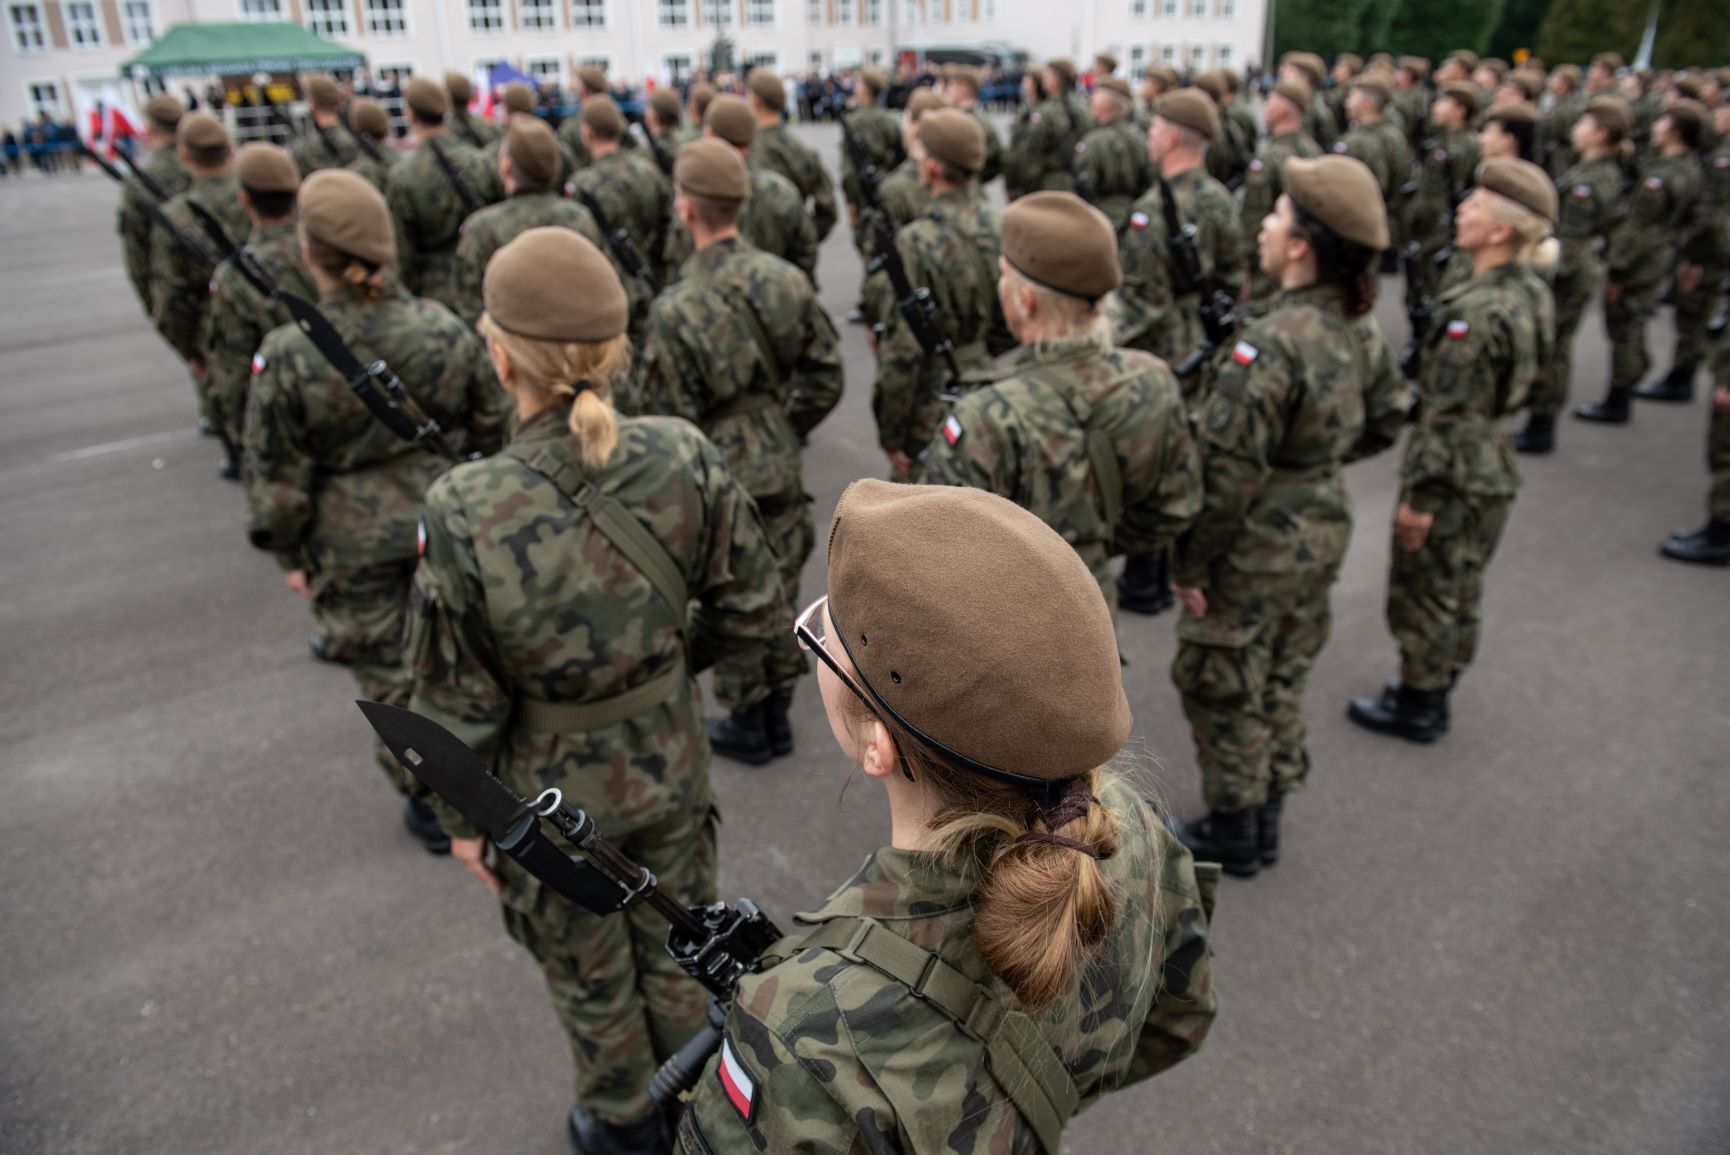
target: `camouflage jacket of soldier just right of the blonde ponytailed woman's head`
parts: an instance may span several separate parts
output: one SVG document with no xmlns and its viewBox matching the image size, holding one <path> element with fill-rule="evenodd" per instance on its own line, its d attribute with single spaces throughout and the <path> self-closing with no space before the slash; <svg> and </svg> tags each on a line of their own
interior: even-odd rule
<svg viewBox="0 0 1730 1155">
<path fill-rule="evenodd" d="M 759 505 L 803 501 L 799 437 L 841 401 L 841 337 L 810 278 L 730 237 L 656 297 L 638 384 L 644 412 L 702 429 Z"/>
</svg>

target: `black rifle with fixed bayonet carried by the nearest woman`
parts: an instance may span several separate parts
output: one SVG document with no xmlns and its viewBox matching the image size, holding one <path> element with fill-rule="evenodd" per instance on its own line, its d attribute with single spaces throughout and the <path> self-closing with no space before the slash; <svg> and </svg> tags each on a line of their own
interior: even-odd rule
<svg viewBox="0 0 1730 1155">
<path fill-rule="evenodd" d="M 356 702 L 379 738 L 403 769 L 477 830 L 500 854 L 509 854 L 541 884 L 595 915 L 612 915 L 631 906 L 650 906 L 666 918 L 666 949 L 680 968 L 701 982 L 713 1001 L 709 1025 L 678 1050 L 654 1079 L 649 1094 L 661 1107 L 673 1107 L 702 1074 L 721 1044 L 721 1024 L 739 979 L 756 970 L 758 960 L 780 939 L 780 930 L 756 903 L 734 906 L 683 906 L 659 889 L 647 868 L 638 866 L 607 842 L 595 821 L 555 790 L 524 799 L 486 769 L 457 735 L 412 711 L 382 702 Z M 581 854 L 566 854 L 541 826 L 548 823 Z"/>
</svg>

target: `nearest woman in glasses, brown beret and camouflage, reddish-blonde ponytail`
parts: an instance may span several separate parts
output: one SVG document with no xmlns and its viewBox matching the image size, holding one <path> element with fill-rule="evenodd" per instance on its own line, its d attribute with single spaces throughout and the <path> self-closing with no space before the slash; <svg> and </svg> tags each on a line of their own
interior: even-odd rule
<svg viewBox="0 0 1730 1155">
<path fill-rule="evenodd" d="M 1099 584 L 1003 498 L 860 481 L 796 629 L 893 846 L 740 982 L 680 1145 L 1055 1155 L 1216 1008 L 1216 873 L 1105 768 L 1130 705 Z"/>
</svg>

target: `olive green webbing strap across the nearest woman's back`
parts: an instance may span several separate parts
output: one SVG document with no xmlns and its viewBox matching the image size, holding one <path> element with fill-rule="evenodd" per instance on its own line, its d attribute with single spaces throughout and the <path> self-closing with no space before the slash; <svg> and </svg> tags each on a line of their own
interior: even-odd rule
<svg viewBox="0 0 1730 1155">
<path fill-rule="evenodd" d="M 967 1037 L 984 1044 L 986 1069 L 1033 1127 L 1040 1146 L 1048 1155 L 1062 1150 L 1064 1124 L 1081 1105 L 1081 1093 L 1024 1011 L 875 918 L 832 918 L 798 946 L 825 948 L 849 963 L 863 963 L 948 1015 Z"/>
</svg>

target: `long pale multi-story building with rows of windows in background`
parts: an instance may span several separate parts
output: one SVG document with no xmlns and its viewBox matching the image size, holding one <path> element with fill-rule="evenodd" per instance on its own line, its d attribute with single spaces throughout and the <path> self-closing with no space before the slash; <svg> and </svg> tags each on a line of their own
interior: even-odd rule
<svg viewBox="0 0 1730 1155">
<path fill-rule="evenodd" d="M 367 55 L 374 74 L 477 73 L 510 61 L 567 83 L 585 64 L 657 83 L 690 74 L 716 33 L 777 71 L 887 64 L 946 45 L 1114 52 L 1150 64 L 1240 69 L 1259 54 L 1268 0 L 0 0 L 0 124 L 80 114 L 121 86 L 119 66 L 182 21 L 294 21 Z"/>
</svg>

